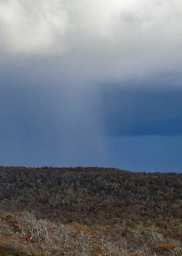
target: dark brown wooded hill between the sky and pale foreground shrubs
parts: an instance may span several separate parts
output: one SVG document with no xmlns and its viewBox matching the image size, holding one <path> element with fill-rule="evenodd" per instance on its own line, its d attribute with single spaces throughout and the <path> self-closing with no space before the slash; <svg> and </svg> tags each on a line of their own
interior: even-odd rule
<svg viewBox="0 0 182 256">
<path fill-rule="evenodd" d="M 94 232 L 113 236 L 113 241 L 118 241 L 119 234 L 130 240 L 141 229 L 180 241 L 182 174 L 1 166 L 0 211 L 28 212 L 37 220 L 72 227 L 94 226 Z"/>
</svg>

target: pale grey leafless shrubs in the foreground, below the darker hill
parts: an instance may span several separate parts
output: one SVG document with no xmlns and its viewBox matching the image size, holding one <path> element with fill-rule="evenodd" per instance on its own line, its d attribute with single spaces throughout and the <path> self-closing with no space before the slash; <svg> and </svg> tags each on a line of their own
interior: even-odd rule
<svg viewBox="0 0 182 256">
<path fill-rule="evenodd" d="M 161 234 L 150 230 L 136 230 L 129 240 L 122 236 L 116 239 L 109 233 L 90 232 L 87 226 L 80 224 L 54 224 L 49 220 L 38 220 L 28 212 L 4 215 L 0 221 L 3 234 L 14 239 L 5 247 L 9 251 L 20 251 L 21 255 L 33 255 L 32 251 L 47 256 L 151 256 L 163 255 L 165 250 L 171 256 L 181 256 L 182 253 L 180 242 L 167 244 Z"/>
</svg>

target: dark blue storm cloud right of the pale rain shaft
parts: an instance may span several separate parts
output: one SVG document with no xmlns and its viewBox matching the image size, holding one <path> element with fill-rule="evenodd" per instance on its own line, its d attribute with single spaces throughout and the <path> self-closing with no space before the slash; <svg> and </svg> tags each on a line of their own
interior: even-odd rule
<svg viewBox="0 0 182 256">
<path fill-rule="evenodd" d="M 108 135 L 182 134 L 182 90 L 103 90 Z"/>
</svg>

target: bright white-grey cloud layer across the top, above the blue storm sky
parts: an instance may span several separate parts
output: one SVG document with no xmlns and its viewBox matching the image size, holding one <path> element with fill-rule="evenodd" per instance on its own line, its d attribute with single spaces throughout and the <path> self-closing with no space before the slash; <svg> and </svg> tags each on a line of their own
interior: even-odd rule
<svg viewBox="0 0 182 256">
<path fill-rule="evenodd" d="M 5 55 L 54 55 L 71 63 L 68 72 L 99 80 L 179 69 L 181 24 L 179 0 L 0 1 Z"/>
</svg>

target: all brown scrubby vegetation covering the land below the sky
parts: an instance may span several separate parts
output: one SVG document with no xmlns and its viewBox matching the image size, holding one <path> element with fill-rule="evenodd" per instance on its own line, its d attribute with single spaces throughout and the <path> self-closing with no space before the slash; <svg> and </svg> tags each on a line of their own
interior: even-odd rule
<svg viewBox="0 0 182 256">
<path fill-rule="evenodd" d="M 182 255 L 182 174 L 0 167 L 0 255 Z"/>
</svg>

